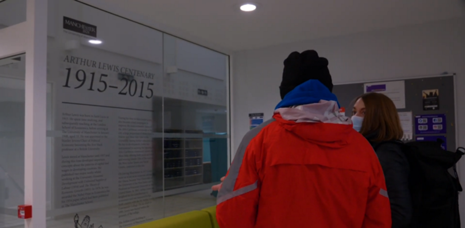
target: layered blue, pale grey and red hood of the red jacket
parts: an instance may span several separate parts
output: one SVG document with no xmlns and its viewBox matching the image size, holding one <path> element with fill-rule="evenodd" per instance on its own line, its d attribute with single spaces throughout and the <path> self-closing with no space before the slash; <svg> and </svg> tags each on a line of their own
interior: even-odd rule
<svg viewBox="0 0 465 228">
<path fill-rule="evenodd" d="M 319 80 L 308 80 L 289 92 L 273 116 L 287 131 L 308 142 L 328 148 L 342 148 L 352 121 L 339 112 L 334 94 Z"/>
</svg>

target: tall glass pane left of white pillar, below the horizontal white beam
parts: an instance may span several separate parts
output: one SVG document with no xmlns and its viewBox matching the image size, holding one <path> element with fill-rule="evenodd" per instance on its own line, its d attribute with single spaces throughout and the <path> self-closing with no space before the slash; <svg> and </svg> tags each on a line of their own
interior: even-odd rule
<svg viewBox="0 0 465 228">
<path fill-rule="evenodd" d="M 17 224 L 24 204 L 24 59 L 0 59 L 0 228 Z"/>
</svg>

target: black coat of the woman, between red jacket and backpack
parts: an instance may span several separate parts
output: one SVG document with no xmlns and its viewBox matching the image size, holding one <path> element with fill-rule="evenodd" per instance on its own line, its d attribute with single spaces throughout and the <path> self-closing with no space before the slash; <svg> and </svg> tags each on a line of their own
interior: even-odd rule
<svg viewBox="0 0 465 228">
<path fill-rule="evenodd" d="M 370 137 L 367 137 L 370 141 Z M 412 200 L 409 190 L 410 166 L 399 145 L 389 142 L 375 143 L 379 163 L 384 172 L 387 193 L 391 203 L 392 228 L 408 228 L 412 218 Z"/>
</svg>

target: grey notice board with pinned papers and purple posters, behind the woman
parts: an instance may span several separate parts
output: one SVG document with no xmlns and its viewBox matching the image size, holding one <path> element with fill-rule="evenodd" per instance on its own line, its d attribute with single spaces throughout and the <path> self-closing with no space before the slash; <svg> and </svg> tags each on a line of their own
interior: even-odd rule
<svg viewBox="0 0 465 228">
<path fill-rule="evenodd" d="M 405 133 L 404 141 L 436 141 L 440 138 L 445 142 L 444 148 L 453 150 L 456 147 L 454 77 L 441 75 L 341 84 L 334 85 L 333 92 L 341 106 L 349 110 L 354 99 L 363 93 L 383 93 L 396 104 Z"/>
</svg>

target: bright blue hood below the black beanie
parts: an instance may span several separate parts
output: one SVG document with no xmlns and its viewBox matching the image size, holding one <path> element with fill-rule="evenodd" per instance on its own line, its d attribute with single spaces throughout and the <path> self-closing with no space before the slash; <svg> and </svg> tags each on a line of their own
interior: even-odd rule
<svg viewBox="0 0 465 228">
<path fill-rule="evenodd" d="M 337 105 L 341 107 L 337 101 L 336 95 L 331 93 L 331 91 L 329 91 L 329 89 L 319 80 L 312 79 L 300 84 L 286 94 L 284 99 L 282 99 L 278 106 L 276 106 L 276 109 L 313 104 L 318 103 L 321 100 L 335 101 L 337 102 Z"/>
</svg>

